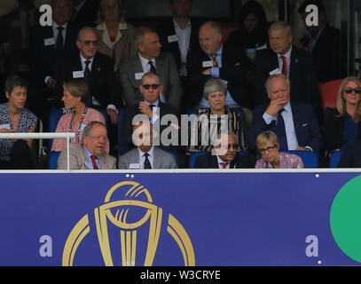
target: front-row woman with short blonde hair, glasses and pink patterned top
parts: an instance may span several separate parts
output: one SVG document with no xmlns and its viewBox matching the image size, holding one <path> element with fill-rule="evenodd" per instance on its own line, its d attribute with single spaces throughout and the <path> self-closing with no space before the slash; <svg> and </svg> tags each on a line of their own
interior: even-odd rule
<svg viewBox="0 0 361 284">
<path fill-rule="evenodd" d="M 255 140 L 262 159 L 255 169 L 302 169 L 303 162 L 296 154 L 279 153 L 279 138 L 272 131 L 264 131 Z"/>
</svg>

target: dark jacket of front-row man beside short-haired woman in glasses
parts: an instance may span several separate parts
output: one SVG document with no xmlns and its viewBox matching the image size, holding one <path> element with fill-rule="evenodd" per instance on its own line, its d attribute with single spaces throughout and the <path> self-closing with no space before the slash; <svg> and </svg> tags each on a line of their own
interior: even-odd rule
<svg viewBox="0 0 361 284">
<path fill-rule="evenodd" d="M 201 154 L 195 158 L 194 169 L 219 169 L 216 155 Z M 249 168 L 248 157 L 242 154 L 236 154 L 233 161 L 230 164 L 230 169 L 247 169 Z"/>
</svg>

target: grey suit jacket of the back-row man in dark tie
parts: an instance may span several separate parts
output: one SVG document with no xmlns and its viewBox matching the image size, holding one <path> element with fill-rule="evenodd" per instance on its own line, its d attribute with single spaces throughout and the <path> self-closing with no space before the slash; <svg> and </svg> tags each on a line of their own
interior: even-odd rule
<svg viewBox="0 0 361 284">
<path fill-rule="evenodd" d="M 157 75 L 161 78 L 163 94 L 167 99 L 167 103 L 179 109 L 183 91 L 176 59 L 171 53 L 161 52 L 161 55 L 155 59 L 155 67 Z M 141 77 L 136 80 L 136 74 L 139 73 L 143 73 L 143 67 L 138 54 L 122 63 L 117 71 L 118 79 L 122 84 L 124 99 L 128 105 L 137 105 L 139 101 L 143 100 L 143 96 L 139 91 Z"/>
</svg>

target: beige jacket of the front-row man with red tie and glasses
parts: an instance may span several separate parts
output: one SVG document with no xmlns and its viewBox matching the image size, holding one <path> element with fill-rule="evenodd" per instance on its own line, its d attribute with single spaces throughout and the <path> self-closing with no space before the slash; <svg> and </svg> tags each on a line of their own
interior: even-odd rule
<svg viewBox="0 0 361 284">
<path fill-rule="evenodd" d="M 70 170 L 90 170 L 91 165 L 87 152 L 82 144 L 69 144 L 69 165 Z M 115 170 L 116 159 L 110 154 L 99 156 L 100 170 Z M 67 170 L 67 145 L 64 146 L 58 159 L 58 170 Z"/>
</svg>

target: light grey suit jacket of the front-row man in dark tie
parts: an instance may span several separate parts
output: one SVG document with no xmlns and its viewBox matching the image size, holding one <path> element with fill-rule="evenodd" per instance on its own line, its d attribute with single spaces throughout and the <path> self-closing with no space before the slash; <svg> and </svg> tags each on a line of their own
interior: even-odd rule
<svg viewBox="0 0 361 284">
<path fill-rule="evenodd" d="M 158 147 L 153 147 L 153 169 L 177 169 L 177 162 L 172 154 L 161 150 Z M 135 170 L 129 169 L 130 164 L 139 164 L 139 151 L 134 148 L 122 154 L 118 160 L 118 169 L 121 170 Z"/>
</svg>

